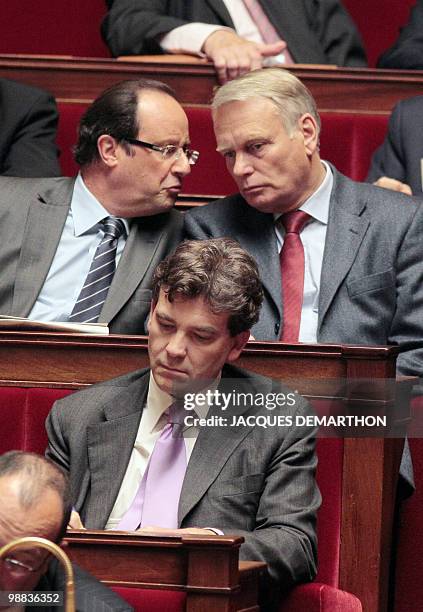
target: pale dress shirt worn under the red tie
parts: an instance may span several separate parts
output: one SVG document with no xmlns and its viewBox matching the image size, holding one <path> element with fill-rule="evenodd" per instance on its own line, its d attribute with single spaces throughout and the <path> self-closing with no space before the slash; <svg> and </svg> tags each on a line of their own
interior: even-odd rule
<svg viewBox="0 0 423 612">
<path fill-rule="evenodd" d="M 300 342 L 317 342 L 317 323 L 319 316 L 320 275 L 322 273 L 323 252 L 325 250 L 326 230 L 329 218 L 329 202 L 332 193 L 333 175 L 329 165 L 322 161 L 326 175 L 323 182 L 300 206 L 312 217 L 300 234 L 304 247 L 304 297 L 301 308 Z M 275 214 L 275 232 L 281 252 L 285 230 L 278 223 L 280 214 Z"/>
</svg>

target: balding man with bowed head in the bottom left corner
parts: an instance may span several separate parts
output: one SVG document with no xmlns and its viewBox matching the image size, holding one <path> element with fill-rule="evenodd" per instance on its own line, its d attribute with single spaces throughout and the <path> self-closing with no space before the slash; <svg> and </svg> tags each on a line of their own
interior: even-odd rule
<svg viewBox="0 0 423 612">
<path fill-rule="evenodd" d="M 0 548 L 17 538 L 37 536 L 57 544 L 65 535 L 71 504 L 67 476 L 34 453 L 11 451 L 0 456 Z M 0 559 L 0 610 L 23 610 L 5 604 L 5 591 L 65 591 L 62 566 L 43 548 L 16 549 Z M 133 608 L 95 578 L 74 566 L 78 612 L 130 612 Z M 18 603 L 18 602 L 15 602 Z M 53 612 L 55 606 L 29 611 Z"/>
</svg>

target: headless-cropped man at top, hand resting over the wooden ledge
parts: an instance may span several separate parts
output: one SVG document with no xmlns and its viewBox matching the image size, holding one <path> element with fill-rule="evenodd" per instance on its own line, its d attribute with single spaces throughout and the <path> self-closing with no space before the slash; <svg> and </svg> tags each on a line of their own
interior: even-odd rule
<svg viewBox="0 0 423 612">
<path fill-rule="evenodd" d="M 203 53 L 221 82 L 267 57 L 301 64 L 365 66 L 360 36 L 338 0 L 261 0 L 268 26 L 242 0 L 107 0 L 102 33 L 113 55 Z M 250 11 L 252 11 L 250 13 Z M 276 41 L 276 42 L 275 42 Z M 267 44 L 265 44 L 267 43 Z"/>
</svg>

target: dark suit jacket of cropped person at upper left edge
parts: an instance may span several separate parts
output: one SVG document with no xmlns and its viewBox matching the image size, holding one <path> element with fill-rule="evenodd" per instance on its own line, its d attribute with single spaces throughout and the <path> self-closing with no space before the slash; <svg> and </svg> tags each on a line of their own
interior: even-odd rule
<svg viewBox="0 0 423 612">
<path fill-rule="evenodd" d="M 45 91 L 0 79 L 0 174 L 60 176 L 54 98 Z"/>
</svg>

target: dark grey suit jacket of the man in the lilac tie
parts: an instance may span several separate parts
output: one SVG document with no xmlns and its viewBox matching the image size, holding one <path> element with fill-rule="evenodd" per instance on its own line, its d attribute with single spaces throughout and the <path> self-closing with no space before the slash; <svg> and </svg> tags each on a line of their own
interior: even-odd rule
<svg viewBox="0 0 423 612">
<path fill-rule="evenodd" d="M 47 456 L 70 474 L 74 506 L 89 528 L 106 524 L 133 449 L 149 371 L 94 385 L 56 402 L 47 418 Z M 277 385 L 277 387 L 274 387 Z M 271 392 L 284 386 L 225 366 L 220 389 Z M 303 415 L 301 397 L 274 413 Z M 222 415 L 217 408 L 212 410 Z M 232 413 L 272 415 L 263 407 Z M 292 427 L 201 428 L 185 475 L 181 527 L 214 526 L 242 535 L 241 558 L 264 560 L 273 581 L 289 587 L 311 580 L 316 567 L 314 430 Z"/>
</svg>

